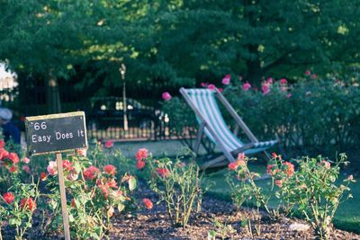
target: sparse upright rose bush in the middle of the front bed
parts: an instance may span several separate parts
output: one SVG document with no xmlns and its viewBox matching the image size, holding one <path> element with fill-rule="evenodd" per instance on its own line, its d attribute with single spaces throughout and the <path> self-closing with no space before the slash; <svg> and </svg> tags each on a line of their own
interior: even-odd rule
<svg viewBox="0 0 360 240">
<path fill-rule="evenodd" d="M 157 192 L 160 200 L 166 202 L 172 225 L 185 227 L 202 200 L 199 167 L 194 163 L 185 164 L 179 158 L 175 161 L 169 158 L 155 159 L 145 150 L 139 149 L 137 165 L 142 162 L 141 166 L 148 169 L 150 188 Z"/>
</svg>

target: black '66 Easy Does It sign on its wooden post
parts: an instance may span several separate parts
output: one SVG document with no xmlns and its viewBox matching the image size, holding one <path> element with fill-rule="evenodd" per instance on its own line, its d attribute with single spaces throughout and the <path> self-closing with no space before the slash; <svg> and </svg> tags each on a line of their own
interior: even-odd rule
<svg viewBox="0 0 360 240">
<path fill-rule="evenodd" d="M 62 152 L 87 148 L 85 113 L 75 111 L 25 118 L 29 155 L 56 154 L 65 239 L 70 239 Z"/>
</svg>

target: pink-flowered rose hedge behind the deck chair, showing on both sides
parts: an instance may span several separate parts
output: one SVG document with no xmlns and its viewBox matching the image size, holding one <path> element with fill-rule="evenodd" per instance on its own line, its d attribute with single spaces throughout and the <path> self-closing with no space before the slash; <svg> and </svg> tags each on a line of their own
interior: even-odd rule
<svg viewBox="0 0 360 240">
<path fill-rule="evenodd" d="M 326 80 L 311 76 L 299 77 L 295 84 L 270 77 L 260 89 L 246 81 L 231 81 L 223 94 L 258 139 L 278 137 L 283 147 L 302 154 L 334 154 L 356 147 L 360 141 L 358 77 L 340 81 L 335 76 Z M 198 123 L 182 97 L 163 102 L 163 111 L 174 134 L 196 135 Z M 234 126 L 229 113 L 223 113 Z"/>
</svg>

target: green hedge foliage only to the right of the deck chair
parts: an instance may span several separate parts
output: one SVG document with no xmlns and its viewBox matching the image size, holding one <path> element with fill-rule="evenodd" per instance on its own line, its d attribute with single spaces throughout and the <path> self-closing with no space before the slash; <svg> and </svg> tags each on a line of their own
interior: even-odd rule
<svg viewBox="0 0 360 240">
<path fill-rule="evenodd" d="M 224 93 L 257 138 L 277 136 L 284 146 L 308 151 L 339 151 L 359 142 L 357 82 L 334 77 L 269 87 L 264 94 L 238 84 Z"/>
</svg>

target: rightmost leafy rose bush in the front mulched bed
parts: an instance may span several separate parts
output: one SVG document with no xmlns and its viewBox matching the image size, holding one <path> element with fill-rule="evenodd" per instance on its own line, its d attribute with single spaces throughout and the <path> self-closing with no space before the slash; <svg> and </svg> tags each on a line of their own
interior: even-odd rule
<svg viewBox="0 0 360 240">
<path fill-rule="evenodd" d="M 339 204 L 352 197 L 347 193 L 348 184 L 355 182 L 352 175 L 344 180 L 345 184 L 336 184 L 340 165 L 347 164 L 346 160 L 345 155 L 340 155 L 335 163 L 321 156 L 305 156 L 296 161 L 299 167 L 296 172 L 290 171 L 292 174 L 281 159 L 271 164 L 273 179 L 281 182 L 276 197 L 287 202 L 292 213 L 302 214 L 320 239 L 330 238 L 331 221 Z"/>
</svg>

